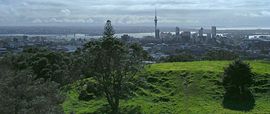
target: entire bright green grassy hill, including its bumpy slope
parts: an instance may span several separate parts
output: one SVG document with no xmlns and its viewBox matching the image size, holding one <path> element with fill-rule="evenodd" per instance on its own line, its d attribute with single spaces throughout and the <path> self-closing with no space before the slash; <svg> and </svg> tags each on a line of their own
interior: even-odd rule
<svg viewBox="0 0 270 114">
<path fill-rule="evenodd" d="M 261 74 L 270 74 L 270 63 L 248 62 L 253 71 L 259 74 L 256 80 L 268 80 L 268 85 L 259 85 L 257 88 L 264 87 L 269 91 L 270 77 L 269 75 L 268 77 L 261 76 Z M 253 94 L 256 106 L 249 112 L 222 107 L 224 90 L 219 82 L 223 68 L 228 64 L 228 61 L 200 61 L 161 63 L 148 66 L 145 73 L 138 77 L 141 81 L 134 92 L 136 96 L 121 101 L 121 108 L 124 112 L 126 108 L 133 108 L 146 114 L 269 113 L 270 94 L 256 93 L 255 91 Z M 106 104 L 102 98 L 89 102 L 79 101 L 76 87 L 77 85 L 74 84 L 63 104 L 66 113 L 70 111 L 75 111 L 78 114 L 92 113 L 102 109 Z"/>
</svg>

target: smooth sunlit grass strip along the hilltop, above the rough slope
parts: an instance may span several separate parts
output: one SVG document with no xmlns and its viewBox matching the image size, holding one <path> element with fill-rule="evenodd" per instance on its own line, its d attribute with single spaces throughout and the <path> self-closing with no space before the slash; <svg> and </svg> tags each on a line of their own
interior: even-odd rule
<svg viewBox="0 0 270 114">
<path fill-rule="evenodd" d="M 270 74 L 270 63 L 266 61 L 246 61 L 252 67 L 252 70 L 259 74 Z M 197 62 L 176 62 L 153 64 L 147 69 L 151 72 L 156 71 L 210 71 L 223 72 L 224 67 L 229 65 L 230 61 L 197 61 Z"/>
</svg>

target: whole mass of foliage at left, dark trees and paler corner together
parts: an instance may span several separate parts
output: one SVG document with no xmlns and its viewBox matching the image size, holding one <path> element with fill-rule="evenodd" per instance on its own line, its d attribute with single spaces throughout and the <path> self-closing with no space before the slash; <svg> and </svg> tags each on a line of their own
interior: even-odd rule
<svg viewBox="0 0 270 114">
<path fill-rule="evenodd" d="M 63 113 L 60 88 L 80 79 L 81 58 L 75 54 L 27 48 L 0 59 L 0 112 Z"/>
</svg>

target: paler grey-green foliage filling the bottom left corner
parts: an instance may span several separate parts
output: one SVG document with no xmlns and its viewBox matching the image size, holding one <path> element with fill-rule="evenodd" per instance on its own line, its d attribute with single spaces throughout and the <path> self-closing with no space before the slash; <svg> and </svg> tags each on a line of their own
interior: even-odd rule
<svg viewBox="0 0 270 114">
<path fill-rule="evenodd" d="M 2 65 L 1 65 L 1 68 Z M 63 114 L 58 84 L 35 79 L 30 70 L 0 69 L 0 112 L 3 114 Z"/>
</svg>

